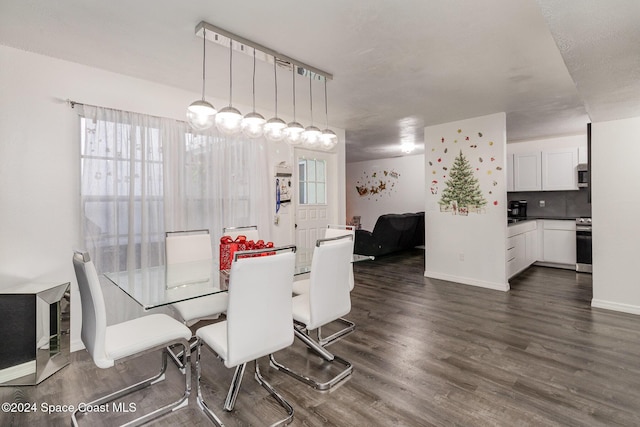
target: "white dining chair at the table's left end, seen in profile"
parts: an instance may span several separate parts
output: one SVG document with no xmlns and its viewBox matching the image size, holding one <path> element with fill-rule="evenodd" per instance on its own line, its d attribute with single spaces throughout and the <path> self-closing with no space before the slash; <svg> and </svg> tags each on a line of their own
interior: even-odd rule
<svg viewBox="0 0 640 427">
<path fill-rule="evenodd" d="M 150 314 L 107 326 L 106 307 L 100 280 L 89 254 L 75 251 L 73 267 L 78 280 L 82 306 L 82 342 L 99 368 L 110 368 L 118 361 L 141 356 L 150 351 L 162 350 L 162 367 L 152 378 L 139 381 L 121 390 L 99 397 L 78 408 L 71 416 L 74 426 L 78 425 L 78 415 L 85 414 L 82 408 L 95 408 L 107 404 L 137 390 L 149 387 L 164 379 L 167 369 L 167 351 L 170 345 L 180 345 L 186 353 L 183 374 L 185 389 L 177 401 L 164 405 L 153 412 L 140 416 L 127 425 L 140 425 L 163 414 L 175 411 L 189 403 L 191 392 L 191 353 L 189 348 L 191 331 L 185 325 L 166 314 Z M 80 406 L 80 405 L 79 405 Z"/>
</svg>

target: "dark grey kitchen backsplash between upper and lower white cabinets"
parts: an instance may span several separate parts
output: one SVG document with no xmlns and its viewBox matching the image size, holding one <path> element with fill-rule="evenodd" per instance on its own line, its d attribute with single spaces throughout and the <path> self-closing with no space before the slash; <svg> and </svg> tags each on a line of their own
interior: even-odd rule
<svg viewBox="0 0 640 427">
<path fill-rule="evenodd" d="M 526 200 L 530 217 L 590 217 L 591 203 L 586 188 L 578 191 L 523 191 L 507 193 L 508 201 Z M 544 201 L 544 207 L 540 202 Z"/>
</svg>

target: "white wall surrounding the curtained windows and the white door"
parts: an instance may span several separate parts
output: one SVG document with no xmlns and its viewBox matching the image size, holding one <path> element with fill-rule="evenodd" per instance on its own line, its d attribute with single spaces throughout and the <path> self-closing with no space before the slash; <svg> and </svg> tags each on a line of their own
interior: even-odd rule
<svg viewBox="0 0 640 427">
<path fill-rule="evenodd" d="M 77 349 L 80 299 L 71 257 L 81 244 L 80 130 L 64 100 L 183 120 L 200 94 L 6 46 L 0 46 L 0 64 L 0 289 L 32 280 L 71 282 L 71 340 Z M 345 215 L 344 131 L 334 130 L 342 141 L 336 161 L 343 163 L 332 189 L 336 221 Z M 275 165 L 290 151 L 273 145 L 269 154 Z M 293 235 L 292 229 L 271 231 L 277 238 Z"/>
</svg>

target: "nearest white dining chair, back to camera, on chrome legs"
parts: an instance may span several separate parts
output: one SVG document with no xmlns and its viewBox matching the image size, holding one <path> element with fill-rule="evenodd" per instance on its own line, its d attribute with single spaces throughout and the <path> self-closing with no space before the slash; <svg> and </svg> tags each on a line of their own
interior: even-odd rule
<svg viewBox="0 0 640 427">
<path fill-rule="evenodd" d="M 246 254 L 275 252 L 269 256 L 242 258 Z M 223 425 L 204 400 L 202 393 L 202 347 L 207 346 L 236 368 L 224 403 L 232 411 L 247 362 L 254 361 L 255 379 L 287 411 L 287 417 L 272 425 L 293 419 L 293 407 L 269 384 L 258 366 L 258 358 L 293 343 L 291 286 L 295 269 L 295 246 L 236 252 L 229 276 L 227 319 L 196 331 L 198 404 L 216 425 Z"/>
</svg>

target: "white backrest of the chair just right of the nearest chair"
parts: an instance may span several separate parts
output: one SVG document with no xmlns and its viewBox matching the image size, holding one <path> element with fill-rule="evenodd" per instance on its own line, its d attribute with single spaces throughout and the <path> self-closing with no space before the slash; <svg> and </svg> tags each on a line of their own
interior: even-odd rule
<svg viewBox="0 0 640 427">
<path fill-rule="evenodd" d="M 351 311 L 349 270 L 353 257 L 353 236 L 320 239 L 311 260 L 309 277 L 310 322 L 316 329 Z"/>
</svg>

